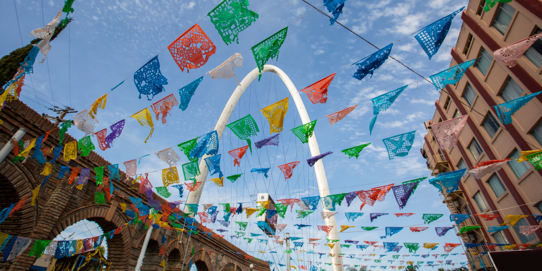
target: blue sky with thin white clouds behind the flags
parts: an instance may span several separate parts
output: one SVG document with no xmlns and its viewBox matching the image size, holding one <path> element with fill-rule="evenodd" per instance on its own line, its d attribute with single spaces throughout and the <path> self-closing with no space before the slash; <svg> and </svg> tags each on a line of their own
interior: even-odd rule
<svg viewBox="0 0 542 271">
<path fill-rule="evenodd" d="M 311 0 L 308 2 L 315 7 L 322 5 L 321 1 Z M 330 26 L 327 17 L 318 12 L 312 12 L 313 8 L 302 1 L 250 1 L 249 9 L 257 12 L 260 16 L 259 19 L 240 33 L 239 44 L 234 42 L 227 46 L 218 35 L 214 25 L 210 23 L 209 18 L 205 17 L 207 12 L 218 3 L 220 2 L 175 0 L 75 1 L 73 4 L 74 21 L 51 42 L 53 48 L 47 61 L 34 65 L 34 74 L 27 76 L 25 81 L 27 86 L 23 87 L 21 100 L 37 112 L 49 115 L 55 115 L 47 109 L 53 105 L 72 106 L 76 110 L 82 111 L 89 107 L 96 98 L 107 93 L 110 88 L 127 79 L 121 86 L 109 93 L 106 109 L 98 111 L 96 118 L 99 123 L 95 128 L 97 132 L 119 120 L 126 119 L 124 131 L 118 139 L 113 141 L 111 149 L 101 151 L 97 148 L 96 152 L 109 162 L 120 164 L 122 170 L 124 170 L 122 162 L 150 153 L 150 156 L 141 159 L 138 173 L 157 171 L 150 173 L 151 182 L 154 186 L 163 186 L 160 171 L 165 169 L 167 164 L 159 160 L 153 153 L 167 147 L 176 148 L 179 143 L 211 132 L 222 112 L 225 101 L 229 99 L 237 85 L 235 79 L 211 79 L 205 73 L 234 53 L 241 53 L 244 59 L 243 67 L 235 68 L 235 73 L 241 80 L 256 67 L 250 47 L 289 25 L 288 35 L 280 48 L 278 61 L 269 61 L 269 63 L 275 64 L 285 71 L 298 90 L 337 72 L 328 88 L 326 104 L 313 105 L 307 96 L 301 93 L 311 120 L 318 119 L 315 134 L 320 151 L 322 153 L 333 152 L 324 158 L 331 193 L 367 190 L 380 185 L 398 184 L 405 180 L 429 176 L 425 161 L 418 150 L 422 146 L 421 140 L 425 134 L 424 130 L 420 130 L 423 128 L 423 121 L 429 120 L 433 116 L 434 103 L 438 98 L 438 92 L 433 85 L 429 85 L 425 81 L 413 83 L 421 78 L 392 59 L 388 59 L 382 67 L 377 69 L 372 78 L 367 76 L 361 81 L 352 78 L 356 66 L 347 66 L 374 53 L 376 49 L 340 25 Z M 453 21 L 446 40 L 432 60 L 428 59 L 414 37 L 406 36 L 467 3 L 467 1 L 447 0 L 386 0 L 379 2 L 348 0 L 338 21 L 380 48 L 401 40 L 394 44 L 391 55 L 423 76 L 429 76 L 449 67 L 451 60 L 449 52 L 451 47 L 455 46 L 462 23 L 460 16 L 458 15 Z M 0 3 L 3 10 L 0 22 L 4 25 L 4 38 L 0 44 L 2 55 L 21 47 L 22 44 L 28 44 L 33 39 L 29 36 L 30 31 L 50 22 L 56 12 L 62 8 L 63 1 L 43 1 L 42 3 L 41 1 L 23 2 L 17 0 L 16 4 L 17 14 L 13 2 Z M 327 12 L 325 7 L 320 9 Z M 18 15 L 18 21 L 16 15 Z M 300 15 L 306 17 L 301 19 Z M 164 49 L 197 22 L 216 45 L 216 54 L 212 55 L 202 68 L 192 69 L 190 73 L 181 72 L 169 51 Z M 145 98 L 138 99 L 139 93 L 133 84 L 131 75 L 157 54 L 162 74 L 167 78 L 168 85 L 165 86 L 165 92 L 158 94 L 152 101 L 147 101 Z M 38 59 L 39 57 L 42 57 L 41 54 L 38 55 Z M 149 134 L 149 128 L 141 127 L 135 119 L 130 118 L 130 115 L 149 107 L 152 102 L 171 93 L 174 93 L 178 99 L 179 88 L 203 75 L 205 75 L 204 79 L 192 97 L 188 109 L 181 111 L 174 108 L 171 111 L 171 116 L 166 118 L 165 125 L 154 119 L 154 133 L 145 144 L 144 140 Z M 405 89 L 391 108 L 379 114 L 375 128 L 370 135 L 369 121 L 372 118 L 372 104 L 369 100 L 410 83 L 413 84 Z M 230 121 L 235 121 L 250 113 L 261 131 L 253 137 L 253 142 L 269 137 L 268 122 L 258 111 L 288 95 L 287 88 L 278 76 L 270 73 L 263 74 L 260 82 L 256 80 L 247 88 Z M 39 99 L 36 99 L 36 96 Z M 301 144 L 299 139 L 288 132 L 291 128 L 301 124 L 293 100 L 290 99 L 290 102 L 279 146 L 268 146 L 261 150 L 253 148 L 253 153 L 251 155 L 247 153 L 241 160 L 241 167 L 233 166 L 233 159 L 227 152 L 246 145 L 245 141 L 239 140 L 229 129 L 225 130 L 219 151 L 223 154 L 222 171 L 225 176 L 237 173 L 246 174 L 233 184 L 229 180 L 225 180 L 225 185 L 222 188 L 217 188 L 212 182 L 207 183 L 200 203 L 246 202 L 243 206 L 248 206 L 254 199 L 250 195 L 255 195 L 258 192 L 268 192 L 274 199 L 318 195 L 314 170 L 305 163 L 305 159 L 311 157 L 308 146 Z M 358 107 L 345 119 L 333 126 L 329 125 L 325 115 L 356 104 Z M 418 132 L 410 154 L 406 157 L 389 160 L 381 139 L 415 130 L 415 127 Z M 76 128 L 70 128 L 68 133 L 75 138 L 83 137 L 83 133 Z M 97 147 L 95 137 L 93 142 Z M 369 142 L 372 144 L 362 151 L 362 155 L 358 159 L 349 159 L 340 152 L 348 147 Z M 177 153 L 181 156 L 177 165 L 180 166 L 188 162 L 188 159 L 181 155 L 180 151 Z M 276 166 L 298 160 L 301 160 L 301 163 L 295 168 L 294 176 L 285 182 L 281 171 Z M 269 178 L 266 179 L 262 175 L 250 173 L 249 171 L 253 167 L 272 167 L 272 171 L 270 171 Z M 212 178 L 214 177 L 216 176 Z M 209 176 L 208 179 L 210 178 Z M 171 188 L 170 192 L 173 195 L 169 200 L 179 199 L 175 189 Z M 183 199 L 185 198 L 186 196 Z M 433 227 L 446 227 L 452 223 L 446 222 L 449 211 L 446 205 L 442 204 L 437 190 L 429 185 L 427 180 L 420 185 L 403 210 L 399 210 L 390 192 L 384 202 L 378 202 L 373 207 L 364 207 L 361 212 L 364 212 L 365 215 L 358 218 L 356 222 L 348 222 L 344 212 L 356 212 L 359 210 L 357 208 L 359 205 L 360 201 L 356 199 L 351 207 L 346 207 L 346 204 L 338 207 L 339 214 L 335 215 L 337 224 L 381 228 L 403 227 L 423 224 L 422 214 L 444 214 L 444 216 L 440 220 L 442 222 L 431 223 L 430 228 L 422 233 L 411 233 L 408 228 L 405 228 L 396 235 L 380 240 L 379 236 L 384 235 L 383 230 L 361 231 L 357 227 L 355 230 L 352 228 L 340 233 L 341 240 L 441 243 L 439 248 L 431 251 L 430 254 L 443 254 L 442 245 L 444 242 L 460 242 L 453 231 L 449 231 L 443 237 L 436 236 Z M 319 211 L 321 211 L 320 209 Z M 379 217 L 371 223 L 369 221 L 370 212 L 387 212 L 390 215 Z M 411 217 L 392 215 L 397 212 L 413 212 L 416 215 Z M 219 216 L 221 215 L 222 213 Z M 233 221 L 255 222 L 254 215 L 250 220 L 239 215 L 232 219 Z M 305 240 L 313 236 L 323 236 L 321 231 L 319 233 L 315 229 L 315 225 L 323 224 L 317 212 L 303 220 L 298 220 L 293 213 L 288 211 L 286 219 L 280 219 L 279 223 L 289 224 L 287 231 L 293 233 L 293 236 L 295 234 L 303 235 Z M 295 223 L 311 224 L 313 227 L 309 230 L 307 228 L 303 231 L 296 230 L 290 226 Z M 251 232 L 258 233 L 260 231 L 255 227 L 255 224 L 249 225 Z M 208 227 L 224 228 L 218 224 L 208 225 Z M 232 226 L 230 225 L 230 227 Z M 230 230 L 228 233 L 231 233 L 236 229 L 230 228 L 228 230 Z M 235 238 L 233 240 L 228 238 L 228 240 L 241 249 L 255 251 L 249 252 L 249 254 L 260 259 L 284 262 L 284 259 L 279 260 L 282 258 L 281 253 L 272 256 L 270 253 L 257 252 L 259 250 L 283 250 L 283 248 L 274 248 L 274 243 L 269 242 L 269 247 L 263 245 L 260 247 L 260 243 L 255 243 L 255 240 L 250 244 Z M 341 243 L 343 242 L 341 241 Z M 305 244 L 303 249 L 312 248 Z M 326 252 L 328 249 L 320 244 L 315 248 L 315 251 Z M 369 253 L 384 254 L 383 251 L 377 249 L 375 252 L 370 251 Z M 453 253 L 462 252 L 461 247 L 453 250 Z M 343 253 L 362 254 L 365 251 L 362 252 L 351 247 L 344 248 Z M 426 253 L 427 249 L 422 248 L 418 250 L 417 254 Z M 408 250 L 403 248 L 399 254 L 412 253 L 408 253 Z M 329 258 L 324 260 L 322 257 L 319 260 L 318 257 L 310 254 L 292 254 L 294 260 L 295 257 L 306 261 L 330 262 Z M 405 261 L 426 261 L 431 258 L 433 257 L 425 259 L 405 257 Z M 382 260 L 388 259 L 392 260 L 391 256 L 382 258 Z M 446 260 L 449 259 L 457 259 L 453 262 L 460 262 L 464 261 L 464 256 L 449 256 Z M 433 260 L 435 261 L 434 258 Z M 372 265 L 369 262 L 359 262 L 354 259 L 344 259 L 344 262 Z M 309 264 L 308 262 L 299 263 Z M 375 263 L 374 265 L 379 264 Z M 399 266 L 405 264 L 386 262 L 383 265 Z M 326 267 L 330 269 L 328 266 Z M 429 267 L 421 268 L 421 270 L 424 269 L 429 269 Z"/>
</svg>

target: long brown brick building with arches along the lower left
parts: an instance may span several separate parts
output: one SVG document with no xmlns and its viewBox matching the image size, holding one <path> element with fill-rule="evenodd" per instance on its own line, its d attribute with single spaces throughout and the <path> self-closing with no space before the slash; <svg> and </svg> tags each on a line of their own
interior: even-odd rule
<svg viewBox="0 0 542 271">
<path fill-rule="evenodd" d="M 0 124 L 0 149 L 20 128 L 26 131 L 20 139 L 24 141 L 39 137 L 56 127 L 21 101 L 8 102 L 0 111 L 0 119 L 3 121 Z M 55 147 L 59 140 L 58 130 L 55 130 L 48 135 L 47 140 L 43 141 L 42 148 Z M 63 143 L 74 140 L 66 134 Z M 36 159 L 30 158 L 25 163 L 13 163 L 10 161 L 14 157 L 13 154 L 10 152 L 8 157 L 0 163 L 0 210 L 29 195 L 45 178 L 40 175 L 43 164 L 38 164 Z M 138 194 L 137 189 L 129 189 L 132 186 L 138 188 L 139 184 L 124 182 L 124 172 L 120 174 L 122 182 L 114 181 L 114 186 L 119 190 L 115 190 L 111 201 L 106 200 L 105 204 L 96 204 L 94 192 L 97 187 L 92 178 L 95 176 L 94 167 L 107 166 L 111 163 L 95 152 L 91 152 L 88 156 L 79 156 L 79 154 L 80 152 L 77 159 L 69 160 L 69 162 L 65 162 L 61 154 L 53 164 L 55 171 L 51 173 L 47 183 L 38 193 L 36 205 L 32 206 L 31 197 L 27 198 L 22 209 L 0 224 L 0 232 L 33 239 L 53 240 L 69 225 L 86 219 L 96 222 L 104 233 L 107 233 L 131 221 L 131 218 L 122 212 L 119 203 L 130 204 L 128 197 L 137 197 L 148 204 L 146 196 Z M 50 158 L 51 154 L 47 160 Z M 60 165 L 91 168 L 91 179 L 82 190 L 79 190 L 74 184 L 68 184 L 68 176 L 57 178 Z M 107 172 L 104 172 L 104 177 L 109 177 Z M 153 193 L 153 198 L 166 204 L 165 199 L 156 193 Z M 209 231 L 197 222 L 194 225 L 200 232 Z M 224 238 L 208 237 L 204 234 L 188 236 L 187 232 L 177 234 L 177 230 L 153 229 L 141 270 L 162 271 L 164 268 L 160 266 L 160 262 L 163 259 L 166 260 L 165 270 L 188 270 L 189 263 L 195 264 L 199 271 L 249 271 L 250 264 L 254 264 L 254 269 L 257 271 L 269 270 L 268 262 L 249 256 Z M 108 238 L 106 240 L 107 260 L 112 263 L 109 270 L 134 270 L 145 234 L 146 230 L 141 227 L 141 224 L 131 224 L 121 233 L 115 234 L 113 238 Z M 166 242 L 163 244 L 162 236 L 166 236 Z M 13 261 L 0 262 L 0 270 L 29 270 L 36 261 L 36 256 L 28 256 L 31 247 L 29 246 Z M 159 255 L 162 248 L 164 248 L 164 256 Z M 192 248 L 194 253 L 191 252 Z M 190 251 L 187 253 L 188 250 Z M 3 257 L 3 254 L 0 251 L 0 257 Z"/>
</svg>

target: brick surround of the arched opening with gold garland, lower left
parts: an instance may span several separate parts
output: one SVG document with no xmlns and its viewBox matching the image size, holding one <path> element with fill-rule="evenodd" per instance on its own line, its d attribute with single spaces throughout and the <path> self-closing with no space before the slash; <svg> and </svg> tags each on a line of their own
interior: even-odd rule
<svg viewBox="0 0 542 271">
<path fill-rule="evenodd" d="M 108 233 L 111 230 L 121 227 L 124 223 L 130 220 L 126 215 L 122 214 L 122 210 L 117 208 L 111 221 L 106 220 L 107 212 L 109 211 L 109 204 L 102 205 L 86 205 L 64 214 L 57 220 L 53 229 L 49 233 L 49 240 L 52 240 L 59 235 L 64 229 L 70 225 L 75 224 L 81 220 L 88 220 L 95 222 L 100 226 L 104 233 Z M 109 270 L 127 270 L 128 261 L 130 258 L 130 231 L 128 227 L 122 229 L 120 234 L 116 234 L 113 238 L 105 238 L 104 242 L 107 242 L 107 261 L 112 263 Z"/>
</svg>

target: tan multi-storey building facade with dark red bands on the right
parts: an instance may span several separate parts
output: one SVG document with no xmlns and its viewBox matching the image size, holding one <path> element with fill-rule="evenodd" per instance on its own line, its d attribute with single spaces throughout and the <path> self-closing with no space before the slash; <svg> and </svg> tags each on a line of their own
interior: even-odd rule
<svg viewBox="0 0 542 271">
<path fill-rule="evenodd" d="M 542 2 L 497 3 L 487 12 L 483 9 L 485 5 L 485 0 L 470 0 L 461 14 L 463 25 L 451 50 L 450 67 L 476 61 L 459 82 L 447 85 L 440 92 L 433 119 L 425 121 L 428 134 L 421 151 L 434 176 L 472 169 L 485 160 L 512 158 L 502 169 L 481 179 L 464 176 L 459 190 L 443 191 L 443 203 L 451 214 L 500 215 L 491 221 L 471 216 L 457 225 L 458 230 L 466 225 L 482 227 L 461 234 L 465 243 L 540 243 L 540 229 L 530 236 L 519 233 L 518 226 L 539 225 L 532 216 L 521 218 L 516 227 L 497 233 L 489 234 L 487 228 L 504 223 L 506 215 L 542 215 L 542 171 L 535 170 L 530 162 L 517 163 L 521 151 L 542 149 L 542 95 L 515 112 L 511 124 L 502 124 L 494 108 L 502 102 L 542 91 L 542 40 L 536 41 L 514 67 L 505 66 L 493 57 L 493 51 L 542 32 Z M 457 145 L 442 150 L 429 125 L 467 114 L 467 124 Z M 482 254 L 499 249 L 502 247 L 479 246 L 466 252 L 474 261 L 474 268 L 479 269 L 481 261 L 483 266 L 493 266 L 488 256 Z"/>
</svg>

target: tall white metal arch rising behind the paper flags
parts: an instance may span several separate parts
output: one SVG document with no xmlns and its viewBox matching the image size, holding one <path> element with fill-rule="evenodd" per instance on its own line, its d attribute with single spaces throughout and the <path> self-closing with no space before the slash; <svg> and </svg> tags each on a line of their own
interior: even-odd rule
<svg viewBox="0 0 542 271">
<path fill-rule="evenodd" d="M 298 90 L 295 88 L 294 83 L 288 78 L 288 75 L 286 75 L 286 73 L 284 73 L 281 69 L 273 65 L 263 66 L 262 73 L 267 73 L 267 72 L 275 73 L 285 83 L 286 87 L 290 91 L 290 94 L 292 95 L 292 98 L 295 102 L 295 106 L 298 108 L 298 112 L 303 124 L 307 124 L 308 122 L 311 122 L 311 119 L 309 118 L 308 113 L 307 113 L 307 109 L 305 108 L 305 105 L 303 104 L 303 100 L 301 99 L 301 96 L 299 95 Z M 220 118 L 218 118 L 218 121 L 216 122 L 216 125 L 215 125 L 215 130 L 218 133 L 219 140 L 220 138 L 222 138 L 222 133 L 224 132 L 224 128 L 228 124 L 228 120 L 230 119 L 231 113 L 233 113 L 235 109 L 235 105 L 237 105 L 237 102 L 241 98 L 241 95 L 243 95 L 245 89 L 247 89 L 250 83 L 254 81 L 254 79 L 256 79 L 259 74 L 260 72 L 258 68 L 253 69 L 241 81 L 241 86 L 237 86 L 237 88 L 235 88 L 234 93 L 231 94 L 231 97 L 228 100 L 228 103 L 224 107 L 224 110 L 222 111 L 222 114 L 220 115 Z M 312 137 L 309 138 L 308 144 L 309 144 L 309 149 L 311 150 L 312 156 L 317 156 L 318 154 L 320 154 L 320 149 L 316 141 L 315 133 L 313 133 Z M 201 162 L 199 162 L 199 170 L 201 171 L 201 174 L 196 177 L 196 181 L 202 182 L 202 183 L 201 185 L 199 185 L 196 191 L 189 193 L 189 196 L 186 199 L 186 203 L 188 204 L 199 203 L 199 198 L 201 197 L 203 186 L 205 185 L 205 181 L 207 180 L 207 175 L 209 173 L 207 164 L 205 164 L 205 161 L 203 160 L 207 157 L 209 157 L 209 155 L 207 154 L 204 155 Z M 324 163 L 322 162 L 322 159 L 318 160 L 318 162 L 316 162 L 313 167 L 314 167 L 314 173 L 316 175 L 316 179 L 318 183 L 318 189 L 320 191 L 320 197 L 329 196 L 330 190 L 327 185 L 326 172 L 324 170 Z M 188 212 L 188 207 L 185 207 L 185 212 Z M 337 233 L 337 223 L 335 223 L 335 217 L 332 216 L 330 218 L 327 218 L 325 220 L 325 223 L 326 225 L 333 226 L 333 229 L 330 231 L 330 234 L 328 237 L 332 240 L 339 240 L 339 235 Z M 338 254 L 341 253 L 340 246 L 336 244 L 333 248 L 330 248 L 330 253 L 337 255 L 337 256 L 331 257 L 332 263 L 333 263 L 332 264 L 333 271 L 343 271 L 344 270 L 343 260 L 341 257 L 338 257 Z"/>
</svg>

